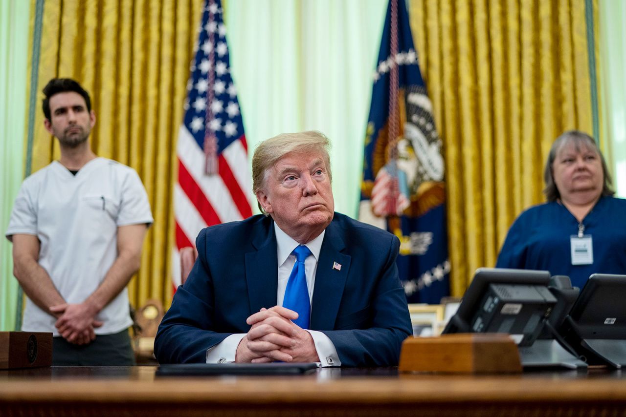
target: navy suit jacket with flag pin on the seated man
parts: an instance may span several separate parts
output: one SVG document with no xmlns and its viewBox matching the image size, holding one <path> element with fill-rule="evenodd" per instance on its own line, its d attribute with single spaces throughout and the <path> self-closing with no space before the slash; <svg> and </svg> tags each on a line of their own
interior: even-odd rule
<svg viewBox="0 0 626 417">
<path fill-rule="evenodd" d="M 276 305 L 274 221 L 262 215 L 203 229 L 198 259 L 155 339 L 160 363 L 204 362 L 207 349 Z M 393 366 L 412 334 L 391 233 L 335 213 L 317 263 L 310 329 L 334 343 L 342 366 Z M 341 264 L 341 270 L 333 268 Z M 323 358 L 322 358 L 323 359 Z"/>
</svg>

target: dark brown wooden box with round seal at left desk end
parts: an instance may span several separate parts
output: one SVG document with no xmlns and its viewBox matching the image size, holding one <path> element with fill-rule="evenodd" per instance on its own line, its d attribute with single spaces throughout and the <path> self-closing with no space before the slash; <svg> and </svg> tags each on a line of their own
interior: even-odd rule
<svg viewBox="0 0 626 417">
<path fill-rule="evenodd" d="M 52 364 L 52 333 L 0 331 L 0 369 Z"/>
</svg>

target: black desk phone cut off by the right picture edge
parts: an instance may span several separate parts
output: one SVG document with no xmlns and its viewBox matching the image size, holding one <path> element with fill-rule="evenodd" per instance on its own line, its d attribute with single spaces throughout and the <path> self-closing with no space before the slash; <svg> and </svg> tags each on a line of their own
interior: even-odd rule
<svg viewBox="0 0 626 417">
<path fill-rule="evenodd" d="M 626 275 L 593 274 L 560 333 L 588 364 L 626 366 Z"/>
</svg>

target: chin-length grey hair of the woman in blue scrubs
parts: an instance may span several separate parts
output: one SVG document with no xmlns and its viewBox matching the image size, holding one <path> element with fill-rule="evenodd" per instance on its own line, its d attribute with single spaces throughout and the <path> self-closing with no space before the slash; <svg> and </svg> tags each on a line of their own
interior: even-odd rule
<svg viewBox="0 0 626 417">
<path fill-rule="evenodd" d="M 602 186 L 601 195 L 603 197 L 607 197 L 615 194 L 615 191 L 613 191 L 611 188 L 613 185 L 613 181 L 611 180 L 611 174 L 608 173 L 607 163 L 604 160 L 604 156 L 602 156 L 602 152 L 600 152 L 600 149 L 598 149 L 598 145 L 587 133 L 578 130 L 570 130 L 555 139 L 554 143 L 552 144 L 552 148 L 550 148 L 548 160 L 546 161 L 545 169 L 543 169 L 543 180 L 546 184 L 546 188 L 543 189 L 543 194 L 545 194 L 546 199 L 548 201 L 557 201 L 557 199 L 561 198 L 561 193 L 558 191 L 557 184 L 555 184 L 554 182 L 552 164 L 554 163 L 555 159 L 557 159 L 557 153 L 563 148 L 563 146 L 570 143 L 573 143 L 576 149 L 580 149 L 580 146 L 586 146 L 600 156 L 600 162 L 602 163 L 602 174 L 604 175 L 604 184 Z"/>
</svg>

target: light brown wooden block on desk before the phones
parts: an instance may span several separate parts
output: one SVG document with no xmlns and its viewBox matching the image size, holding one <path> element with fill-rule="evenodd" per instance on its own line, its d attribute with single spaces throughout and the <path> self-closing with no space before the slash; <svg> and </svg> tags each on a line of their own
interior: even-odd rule
<svg viewBox="0 0 626 417">
<path fill-rule="evenodd" d="M 402 344 L 401 372 L 520 373 L 520 353 L 508 334 L 458 333 L 409 337 Z"/>
</svg>

